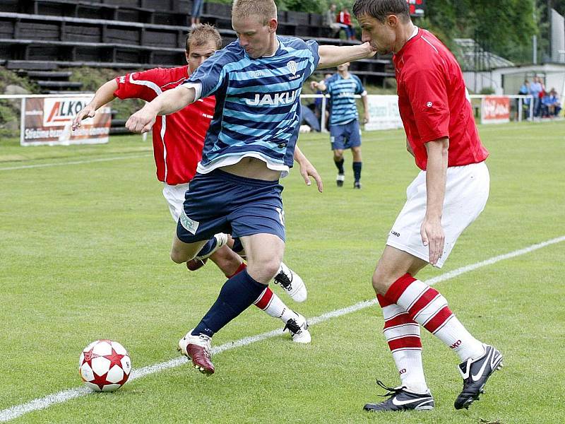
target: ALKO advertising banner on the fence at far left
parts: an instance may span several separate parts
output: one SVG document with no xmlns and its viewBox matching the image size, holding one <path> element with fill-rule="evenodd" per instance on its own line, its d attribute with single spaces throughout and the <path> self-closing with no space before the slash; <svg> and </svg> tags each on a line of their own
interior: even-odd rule
<svg viewBox="0 0 565 424">
<path fill-rule="evenodd" d="M 93 96 L 76 98 L 27 98 L 21 112 L 20 144 L 22 146 L 56 146 L 83 143 L 107 143 L 112 115 L 101 107 L 94 118 L 81 122 L 71 131 L 73 117 Z"/>
</svg>

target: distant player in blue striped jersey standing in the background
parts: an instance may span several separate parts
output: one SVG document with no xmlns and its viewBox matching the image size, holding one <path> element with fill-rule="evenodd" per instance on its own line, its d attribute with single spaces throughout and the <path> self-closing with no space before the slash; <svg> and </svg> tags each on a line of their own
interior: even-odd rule
<svg viewBox="0 0 565 424">
<path fill-rule="evenodd" d="M 347 62 L 338 66 L 338 72 L 330 78 L 319 83 L 311 83 L 313 89 L 319 89 L 330 95 L 330 141 L 333 150 L 333 161 L 338 168 L 338 177 L 335 181 L 338 187 L 343 186 L 345 172 L 343 170 L 343 151 L 351 149 L 353 155 L 353 175 L 355 189 L 361 188 L 361 129 L 359 128 L 359 114 L 355 95 L 360 94 L 363 100 L 363 123 L 369 122 L 369 107 L 367 105 L 367 91 L 361 80 L 349 72 L 350 64 Z"/>
</svg>

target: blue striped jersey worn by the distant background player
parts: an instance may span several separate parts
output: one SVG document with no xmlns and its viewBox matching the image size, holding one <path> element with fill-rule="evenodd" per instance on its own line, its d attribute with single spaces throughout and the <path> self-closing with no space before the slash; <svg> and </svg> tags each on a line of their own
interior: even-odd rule
<svg viewBox="0 0 565 424">
<path fill-rule="evenodd" d="M 353 97 L 364 93 L 365 88 L 361 80 L 352 73 L 349 78 L 343 78 L 339 73 L 334 73 L 326 80 L 326 93 L 330 95 L 330 125 L 343 125 L 359 119 L 357 103 Z"/>
</svg>

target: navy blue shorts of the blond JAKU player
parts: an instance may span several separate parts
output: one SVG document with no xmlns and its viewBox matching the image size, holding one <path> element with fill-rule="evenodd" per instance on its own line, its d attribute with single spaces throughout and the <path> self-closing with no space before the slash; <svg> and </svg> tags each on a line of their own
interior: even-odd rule
<svg viewBox="0 0 565 424">
<path fill-rule="evenodd" d="M 238 177 L 221 170 L 196 174 L 186 192 L 177 237 L 185 243 L 218 232 L 244 237 L 274 234 L 285 241 L 285 213 L 278 181 Z"/>
</svg>

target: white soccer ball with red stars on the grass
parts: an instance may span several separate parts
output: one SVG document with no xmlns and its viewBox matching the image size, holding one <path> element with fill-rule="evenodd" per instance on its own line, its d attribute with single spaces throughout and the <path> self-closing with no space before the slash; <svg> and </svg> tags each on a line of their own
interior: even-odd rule
<svg viewBox="0 0 565 424">
<path fill-rule="evenodd" d="M 128 381 L 131 359 L 117 341 L 97 340 L 83 349 L 78 372 L 84 384 L 95 391 L 114 391 Z"/>
</svg>

